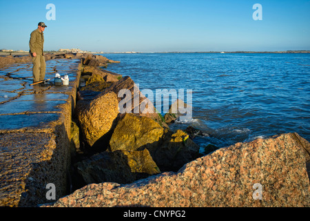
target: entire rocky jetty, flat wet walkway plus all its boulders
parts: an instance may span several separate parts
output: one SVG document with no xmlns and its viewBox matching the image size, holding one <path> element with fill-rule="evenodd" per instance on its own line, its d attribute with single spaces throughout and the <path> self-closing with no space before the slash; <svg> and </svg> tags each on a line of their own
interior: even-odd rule
<svg viewBox="0 0 310 221">
<path fill-rule="evenodd" d="M 163 117 L 130 77 L 104 69 L 117 61 L 45 55 L 48 75 L 76 75 L 35 88 L 29 58 L 8 67 L 17 59 L 0 76 L 0 96 L 12 93 L 0 100 L 1 206 L 310 206 L 310 144 L 297 133 L 201 155 L 192 138 L 207 134 L 169 128 L 187 104 Z"/>
</svg>

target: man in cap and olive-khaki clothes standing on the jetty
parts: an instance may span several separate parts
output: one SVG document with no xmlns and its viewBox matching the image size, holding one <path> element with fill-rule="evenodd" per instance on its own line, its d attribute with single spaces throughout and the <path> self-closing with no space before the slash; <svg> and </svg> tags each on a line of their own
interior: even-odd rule
<svg viewBox="0 0 310 221">
<path fill-rule="evenodd" d="M 38 23 L 38 28 L 31 32 L 29 48 L 32 57 L 32 75 L 33 83 L 43 81 L 45 77 L 45 58 L 43 53 L 44 35 L 43 31 L 48 26 L 44 22 Z"/>
</svg>

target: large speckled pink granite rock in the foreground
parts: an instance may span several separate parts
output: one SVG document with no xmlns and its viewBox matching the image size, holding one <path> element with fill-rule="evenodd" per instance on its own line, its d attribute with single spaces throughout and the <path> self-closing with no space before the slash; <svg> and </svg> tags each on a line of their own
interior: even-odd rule
<svg viewBox="0 0 310 221">
<path fill-rule="evenodd" d="M 296 133 L 220 148 L 132 184 L 89 184 L 43 206 L 310 206 L 310 144 Z"/>
</svg>

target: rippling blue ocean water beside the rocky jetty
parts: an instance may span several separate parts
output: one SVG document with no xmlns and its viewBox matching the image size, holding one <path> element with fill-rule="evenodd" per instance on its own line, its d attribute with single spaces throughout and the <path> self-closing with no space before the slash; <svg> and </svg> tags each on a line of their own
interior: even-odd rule
<svg viewBox="0 0 310 221">
<path fill-rule="evenodd" d="M 229 146 L 296 132 L 310 141 L 310 54 L 103 54 L 107 70 L 145 88 L 192 90 L 192 119 L 170 128 L 205 132 L 200 146 Z M 154 98 L 155 101 L 155 98 Z M 157 106 L 156 106 L 157 107 Z M 163 112 L 163 109 L 161 109 Z M 164 115 L 165 113 L 162 113 Z"/>
</svg>

